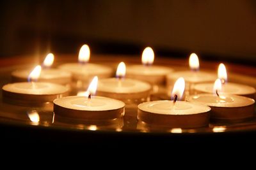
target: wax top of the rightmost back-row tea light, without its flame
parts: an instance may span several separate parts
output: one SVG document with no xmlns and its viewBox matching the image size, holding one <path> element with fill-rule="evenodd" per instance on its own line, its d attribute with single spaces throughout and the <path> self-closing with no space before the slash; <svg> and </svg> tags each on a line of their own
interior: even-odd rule
<svg viewBox="0 0 256 170">
<path fill-rule="evenodd" d="M 175 81 L 179 77 L 183 77 L 186 83 L 202 83 L 208 81 L 215 81 L 217 75 L 207 73 L 205 71 L 179 71 L 168 74 L 167 80 L 170 81 L 170 85 L 172 85 L 172 83 L 175 83 Z"/>
</svg>

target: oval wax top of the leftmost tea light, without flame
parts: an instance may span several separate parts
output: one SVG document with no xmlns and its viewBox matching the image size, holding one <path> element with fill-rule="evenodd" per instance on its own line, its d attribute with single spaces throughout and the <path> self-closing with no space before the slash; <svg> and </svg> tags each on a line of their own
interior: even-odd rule
<svg viewBox="0 0 256 170">
<path fill-rule="evenodd" d="M 67 92 L 67 87 L 45 82 L 10 83 L 3 86 L 3 90 L 17 94 L 52 95 Z"/>
</svg>

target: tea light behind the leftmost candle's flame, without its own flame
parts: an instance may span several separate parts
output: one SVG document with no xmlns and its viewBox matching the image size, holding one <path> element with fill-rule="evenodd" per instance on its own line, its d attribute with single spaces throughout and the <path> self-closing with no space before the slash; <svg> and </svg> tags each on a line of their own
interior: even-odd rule
<svg viewBox="0 0 256 170">
<path fill-rule="evenodd" d="M 12 72 L 14 80 L 27 81 L 31 69 L 23 69 Z M 42 69 L 38 81 L 67 84 L 70 83 L 71 73 L 62 69 Z"/>
</svg>

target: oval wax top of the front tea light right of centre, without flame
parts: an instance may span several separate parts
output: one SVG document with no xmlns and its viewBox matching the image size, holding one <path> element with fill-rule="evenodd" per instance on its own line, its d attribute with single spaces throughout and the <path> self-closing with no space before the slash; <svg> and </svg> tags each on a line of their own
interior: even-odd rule
<svg viewBox="0 0 256 170">
<path fill-rule="evenodd" d="M 193 115 L 211 110 L 211 108 L 202 104 L 184 101 L 177 101 L 175 104 L 173 104 L 173 101 L 150 101 L 139 104 L 138 108 L 159 115 Z"/>
</svg>

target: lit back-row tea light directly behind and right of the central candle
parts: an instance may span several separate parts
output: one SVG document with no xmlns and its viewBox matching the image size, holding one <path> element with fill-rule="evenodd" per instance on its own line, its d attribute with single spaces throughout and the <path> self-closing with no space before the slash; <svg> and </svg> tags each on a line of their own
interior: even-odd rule
<svg viewBox="0 0 256 170">
<path fill-rule="evenodd" d="M 127 66 L 127 78 L 134 78 L 141 81 L 147 81 L 152 85 L 159 85 L 164 84 L 166 75 L 173 71 L 170 67 L 153 66 L 154 51 L 150 47 L 143 50 L 141 62 L 141 65 Z"/>
</svg>

